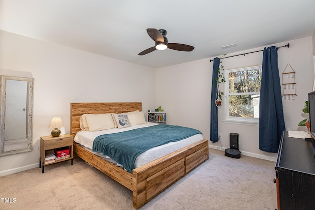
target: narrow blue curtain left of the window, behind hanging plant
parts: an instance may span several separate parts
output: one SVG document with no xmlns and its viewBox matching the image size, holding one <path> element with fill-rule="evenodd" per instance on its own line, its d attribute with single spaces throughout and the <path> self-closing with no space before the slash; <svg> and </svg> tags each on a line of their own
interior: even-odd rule
<svg viewBox="0 0 315 210">
<path fill-rule="evenodd" d="M 215 58 L 213 60 L 212 68 L 212 88 L 211 88 L 211 112 L 210 112 L 210 141 L 213 143 L 219 141 L 218 137 L 218 107 L 216 106 L 217 99 L 217 86 L 214 87 L 214 84 L 217 82 L 216 78 L 218 77 L 218 68 L 220 66 L 220 59 Z"/>
</svg>

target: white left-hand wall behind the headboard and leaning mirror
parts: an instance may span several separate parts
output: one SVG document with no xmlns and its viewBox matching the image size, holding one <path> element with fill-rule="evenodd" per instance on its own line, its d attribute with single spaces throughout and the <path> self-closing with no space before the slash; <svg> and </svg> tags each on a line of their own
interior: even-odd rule
<svg viewBox="0 0 315 210">
<path fill-rule="evenodd" d="M 0 157 L 0 176 L 39 166 L 40 136 L 71 102 L 142 102 L 155 107 L 155 70 L 0 30 L 0 75 L 34 78 L 33 150 Z"/>
</svg>

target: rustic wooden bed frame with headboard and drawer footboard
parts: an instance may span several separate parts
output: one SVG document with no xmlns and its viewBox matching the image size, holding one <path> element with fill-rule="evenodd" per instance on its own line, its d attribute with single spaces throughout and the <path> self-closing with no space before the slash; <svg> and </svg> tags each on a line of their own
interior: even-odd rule
<svg viewBox="0 0 315 210">
<path fill-rule="evenodd" d="M 80 131 L 83 114 L 123 113 L 139 110 L 142 103 L 71 103 L 71 135 Z M 84 150 L 74 142 L 73 153 L 90 163 L 133 192 L 133 207 L 141 208 L 167 187 L 209 159 L 208 140 L 203 139 L 181 150 L 165 155 L 146 165 L 133 169 L 132 174 L 99 156 Z"/>
</svg>

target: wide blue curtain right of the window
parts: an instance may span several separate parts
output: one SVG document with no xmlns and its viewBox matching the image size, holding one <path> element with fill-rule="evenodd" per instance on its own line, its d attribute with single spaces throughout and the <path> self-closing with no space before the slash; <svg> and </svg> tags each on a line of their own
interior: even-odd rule
<svg viewBox="0 0 315 210">
<path fill-rule="evenodd" d="M 259 105 L 259 149 L 278 152 L 285 130 L 278 68 L 278 48 L 264 49 Z"/>
</svg>

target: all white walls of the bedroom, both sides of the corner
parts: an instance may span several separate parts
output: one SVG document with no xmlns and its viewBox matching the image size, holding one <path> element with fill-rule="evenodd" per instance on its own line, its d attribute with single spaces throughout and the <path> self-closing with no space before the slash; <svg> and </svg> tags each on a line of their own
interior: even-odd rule
<svg viewBox="0 0 315 210">
<path fill-rule="evenodd" d="M 284 120 L 287 130 L 302 130 L 305 128 L 297 124 L 303 119 L 301 110 L 314 81 L 313 43 L 312 37 L 288 42 L 289 48 L 278 51 L 279 70 L 281 75 L 290 63 L 296 71 L 297 96 L 294 101 L 283 101 Z M 39 166 L 40 136 L 50 135 L 48 124 L 53 117 L 61 117 L 69 132 L 71 102 L 142 102 L 144 112 L 161 106 L 169 124 L 199 129 L 205 138 L 210 138 L 213 62 L 209 60 L 213 58 L 154 70 L 1 30 L 0 46 L 0 75 L 35 79 L 33 151 L 0 157 L 0 176 Z M 262 52 L 222 61 L 225 69 L 261 64 Z M 229 133 L 235 132 L 240 134 L 243 154 L 275 159 L 276 153 L 258 149 L 257 126 L 227 124 L 223 119 L 221 107 L 219 132 L 223 149 L 229 148 Z M 221 149 L 221 144 L 210 142 L 210 147 Z"/>
</svg>

